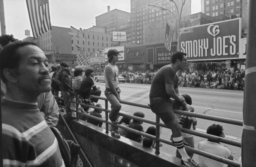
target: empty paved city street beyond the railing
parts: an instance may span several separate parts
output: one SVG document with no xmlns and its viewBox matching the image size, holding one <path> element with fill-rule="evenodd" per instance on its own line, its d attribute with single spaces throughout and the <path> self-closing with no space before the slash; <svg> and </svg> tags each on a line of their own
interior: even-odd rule
<svg viewBox="0 0 256 167">
<path fill-rule="evenodd" d="M 105 83 L 96 82 L 96 86 L 100 86 L 102 90 L 102 97 L 105 97 Z M 124 101 L 135 102 L 139 104 L 149 103 L 149 90 L 150 85 L 146 84 L 136 84 L 136 83 L 120 83 L 121 89 L 121 99 Z M 243 91 L 233 91 L 224 89 L 202 89 L 202 88 L 189 88 L 189 87 L 179 87 L 180 94 L 189 94 L 192 97 L 192 106 L 195 108 L 196 113 L 207 114 L 212 116 L 221 116 L 224 118 L 243 120 Z M 104 101 L 99 101 L 102 106 L 104 106 Z M 109 104 L 110 108 L 110 104 Z M 143 109 L 135 106 L 128 106 L 123 104 L 121 111 L 127 114 L 133 114 L 135 111 L 142 111 L 145 114 L 146 119 L 155 121 L 155 114 L 149 109 Z M 102 113 L 102 117 L 105 119 L 105 114 Z M 235 141 L 241 141 L 242 127 L 236 125 L 225 124 L 216 121 L 197 119 L 197 129 L 199 132 L 206 132 L 207 127 L 211 124 L 221 124 L 226 135 L 225 138 L 233 139 Z M 144 131 L 151 126 L 150 124 L 143 124 Z M 104 124 L 103 126 L 104 127 Z M 169 139 L 171 135 L 170 129 L 161 129 L 161 138 Z M 205 140 L 201 137 L 195 137 L 195 148 L 197 148 L 197 143 Z M 241 148 L 230 146 L 228 144 L 223 144 L 227 146 L 233 156 L 238 159 L 241 156 Z M 169 153 L 173 152 L 175 154 L 175 148 L 163 144 L 160 148 L 160 152 Z M 172 154 L 172 153 L 171 153 Z M 194 156 L 197 159 L 197 155 Z"/>
</svg>

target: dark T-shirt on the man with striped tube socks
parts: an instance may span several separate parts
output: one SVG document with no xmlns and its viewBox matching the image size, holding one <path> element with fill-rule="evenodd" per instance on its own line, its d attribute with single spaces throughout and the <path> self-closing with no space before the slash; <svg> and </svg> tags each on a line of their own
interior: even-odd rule
<svg viewBox="0 0 256 167">
<path fill-rule="evenodd" d="M 165 83 L 171 83 L 174 89 L 178 88 L 179 78 L 170 64 L 163 66 L 155 74 L 151 83 L 149 97 L 169 99 L 170 97 L 166 93 Z"/>
</svg>

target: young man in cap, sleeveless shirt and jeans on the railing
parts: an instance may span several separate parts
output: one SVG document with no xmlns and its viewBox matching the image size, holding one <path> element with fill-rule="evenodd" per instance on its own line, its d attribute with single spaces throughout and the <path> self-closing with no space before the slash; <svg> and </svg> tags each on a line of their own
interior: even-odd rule
<svg viewBox="0 0 256 167">
<path fill-rule="evenodd" d="M 104 78 L 105 78 L 105 91 L 104 94 L 108 101 L 111 104 L 111 111 L 109 114 L 109 119 L 113 123 L 111 125 L 111 134 L 114 137 L 119 138 L 120 134 L 118 132 L 118 127 L 115 124 L 118 124 L 118 113 L 121 109 L 120 104 L 120 88 L 118 81 L 118 67 L 115 63 L 118 62 L 119 52 L 116 49 L 110 49 L 108 51 L 108 65 L 104 69 Z"/>
</svg>

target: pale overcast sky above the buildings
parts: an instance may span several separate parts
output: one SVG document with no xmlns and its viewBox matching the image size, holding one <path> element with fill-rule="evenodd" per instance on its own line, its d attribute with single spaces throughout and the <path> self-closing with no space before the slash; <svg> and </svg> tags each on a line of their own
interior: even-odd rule
<svg viewBox="0 0 256 167">
<path fill-rule="evenodd" d="M 6 34 L 13 34 L 19 40 L 26 38 L 30 30 L 26 0 L 3 0 Z M 110 10 L 131 12 L 131 0 L 49 0 L 51 25 L 70 28 L 91 28 L 95 17 Z M 191 0 L 191 14 L 201 12 L 201 0 Z"/>
</svg>

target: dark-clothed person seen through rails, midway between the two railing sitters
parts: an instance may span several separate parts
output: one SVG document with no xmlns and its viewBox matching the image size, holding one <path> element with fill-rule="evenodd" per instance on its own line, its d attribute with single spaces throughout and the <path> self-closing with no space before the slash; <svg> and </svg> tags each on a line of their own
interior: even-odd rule
<svg viewBox="0 0 256 167">
<path fill-rule="evenodd" d="M 133 113 L 133 116 L 138 116 L 140 118 L 144 118 L 145 114 L 141 111 L 136 111 L 135 113 Z M 133 119 L 133 121 L 131 121 L 131 123 L 129 124 L 128 127 L 131 128 L 131 129 L 138 130 L 140 132 L 144 132 L 143 127 L 142 127 L 141 124 L 143 124 L 143 121 L 138 121 L 136 119 Z M 141 140 L 142 140 L 141 135 L 135 134 L 133 132 L 128 132 L 128 131 L 126 132 L 126 138 L 131 139 L 135 142 L 141 142 Z"/>
</svg>

